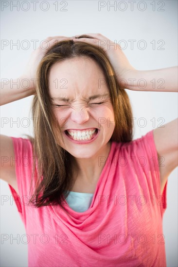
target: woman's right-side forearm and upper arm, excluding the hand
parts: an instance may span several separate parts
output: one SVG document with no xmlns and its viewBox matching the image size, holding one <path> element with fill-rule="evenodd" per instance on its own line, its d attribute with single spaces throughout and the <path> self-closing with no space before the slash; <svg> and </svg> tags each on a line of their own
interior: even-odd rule
<svg viewBox="0 0 178 267">
<path fill-rule="evenodd" d="M 130 77 L 129 77 L 130 76 Z M 130 78 L 135 80 L 128 80 Z M 144 79 L 139 84 L 138 81 Z M 159 81 L 162 79 L 164 84 L 159 88 L 159 83 L 151 81 Z M 136 91 L 157 91 L 157 92 L 178 92 L 178 67 L 168 67 L 156 70 L 130 70 L 125 73 L 125 80 L 129 82 L 127 88 Z M 163 192 L 164 186 L 170 173 L 178 166 L 178 118 L 166 123 L 164 127 L 153 130 L 155 145 L 159 158 L 160 165 L 160 189 Z M 163 160 L 163 161 L 162 161 Z M 164 166 L 161 166 L 164 165 Z"/>
</svg>

